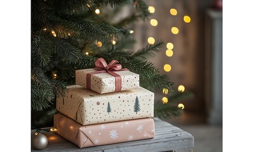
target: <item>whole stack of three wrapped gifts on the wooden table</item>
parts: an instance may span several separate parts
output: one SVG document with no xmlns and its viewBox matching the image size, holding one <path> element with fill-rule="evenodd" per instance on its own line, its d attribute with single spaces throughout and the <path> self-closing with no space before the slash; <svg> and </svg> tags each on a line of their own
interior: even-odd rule
<svg viewBox="0 0 256 152">
<path fill-rule="evenodd" d="M 76 85 L 57 97 L 57 134 L 79 148 L 153 138 L 154 93 L 116 60 L 95 66 L 76 70 Z"/>
</svg>

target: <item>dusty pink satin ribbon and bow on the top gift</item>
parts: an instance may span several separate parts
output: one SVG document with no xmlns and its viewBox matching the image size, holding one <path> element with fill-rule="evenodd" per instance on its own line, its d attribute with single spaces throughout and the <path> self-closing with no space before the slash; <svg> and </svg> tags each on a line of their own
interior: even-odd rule
<svg viewBox="0 0 256 152">
<path fill-rule="evenodd" d="M 86 74 L 86 87 L 87 89 L 91 89 L 91 75 L 93 74 L 98 74 L 98 73 L 109 73 L 112 76 L 115 77 L 115 82 L 116 82 L 116 89 L 115 91 L 121 91 L 122 89 L 122 79 L 121 76 L 118 73 L 115 73 L 114 71 L 127 71 L 127 68 L 122 68 L 120 64 L 116 60 L 112 60 L 109 65 L 107 65 L 106 61 L 104 58 L 98 58 L 95 61 L 95 66 L 96 68 L 93 68 L 94 70 L 97 70 L 96 72 L 90 72 Z"/>
</svg>

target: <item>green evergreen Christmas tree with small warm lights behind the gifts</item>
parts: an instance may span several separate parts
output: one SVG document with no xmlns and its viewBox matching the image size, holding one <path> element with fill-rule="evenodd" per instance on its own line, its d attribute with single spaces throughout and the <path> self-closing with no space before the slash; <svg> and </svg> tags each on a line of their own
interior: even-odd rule
<svg viewBox="0 0 256 152">
<path fill-rule="evenodd" d="M 125 6 L 130 7 L 130 14 L 113 22 Z M 75 70 L 93 68 L 99 57 L 107 63 L 118 60 L 123 68 L 140 74 L 140 86 L 145 89 L 166 88 L 168 96 L 175 95 L 173 82 L 146 61 L 162 50 L 164 42 L 133 51 L 133 22 L 149 16 L 148 6 L 142 0 L 31 1 L 32 125 L 52 126 L 56 96 L 64 96 L 67 85 L 75 83 Z M 180 113 L 177 106 L 173 107 L 172 111 Z"/>
</svg>

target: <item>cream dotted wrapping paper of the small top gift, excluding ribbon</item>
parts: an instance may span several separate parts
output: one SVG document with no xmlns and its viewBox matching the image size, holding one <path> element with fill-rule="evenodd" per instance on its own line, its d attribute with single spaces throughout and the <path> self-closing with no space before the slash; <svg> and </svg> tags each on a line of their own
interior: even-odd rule
<svg viewBox="0 0 256 152">
<path fill-rule="evenodd" d="M 86 88 L 86 74 L 96 72 L 93 68 L 76 70 L 76 84 Z M 121 91 L 135 89 L 139 87 L 139 75 L 130 71 L 117 71 L 121 76 Z M 116 89 L 115 77 L 111 74 L 97 73 L 91 75 L 91 90 L 100 94 L 114 92 Z"/>
</svg>

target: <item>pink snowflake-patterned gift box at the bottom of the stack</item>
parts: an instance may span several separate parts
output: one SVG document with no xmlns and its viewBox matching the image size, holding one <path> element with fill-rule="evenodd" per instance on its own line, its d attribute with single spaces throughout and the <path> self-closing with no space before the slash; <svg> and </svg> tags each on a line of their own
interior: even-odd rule
<svg viewBox="0 0 256 152">
<path fill-rule="evenodd" d="M 54 115 L 54 127 L 58 135 L 79 148 L 151 139 L 155 134 L 152 118 L 81 125 L 58 113 Z"/>
</svg>

